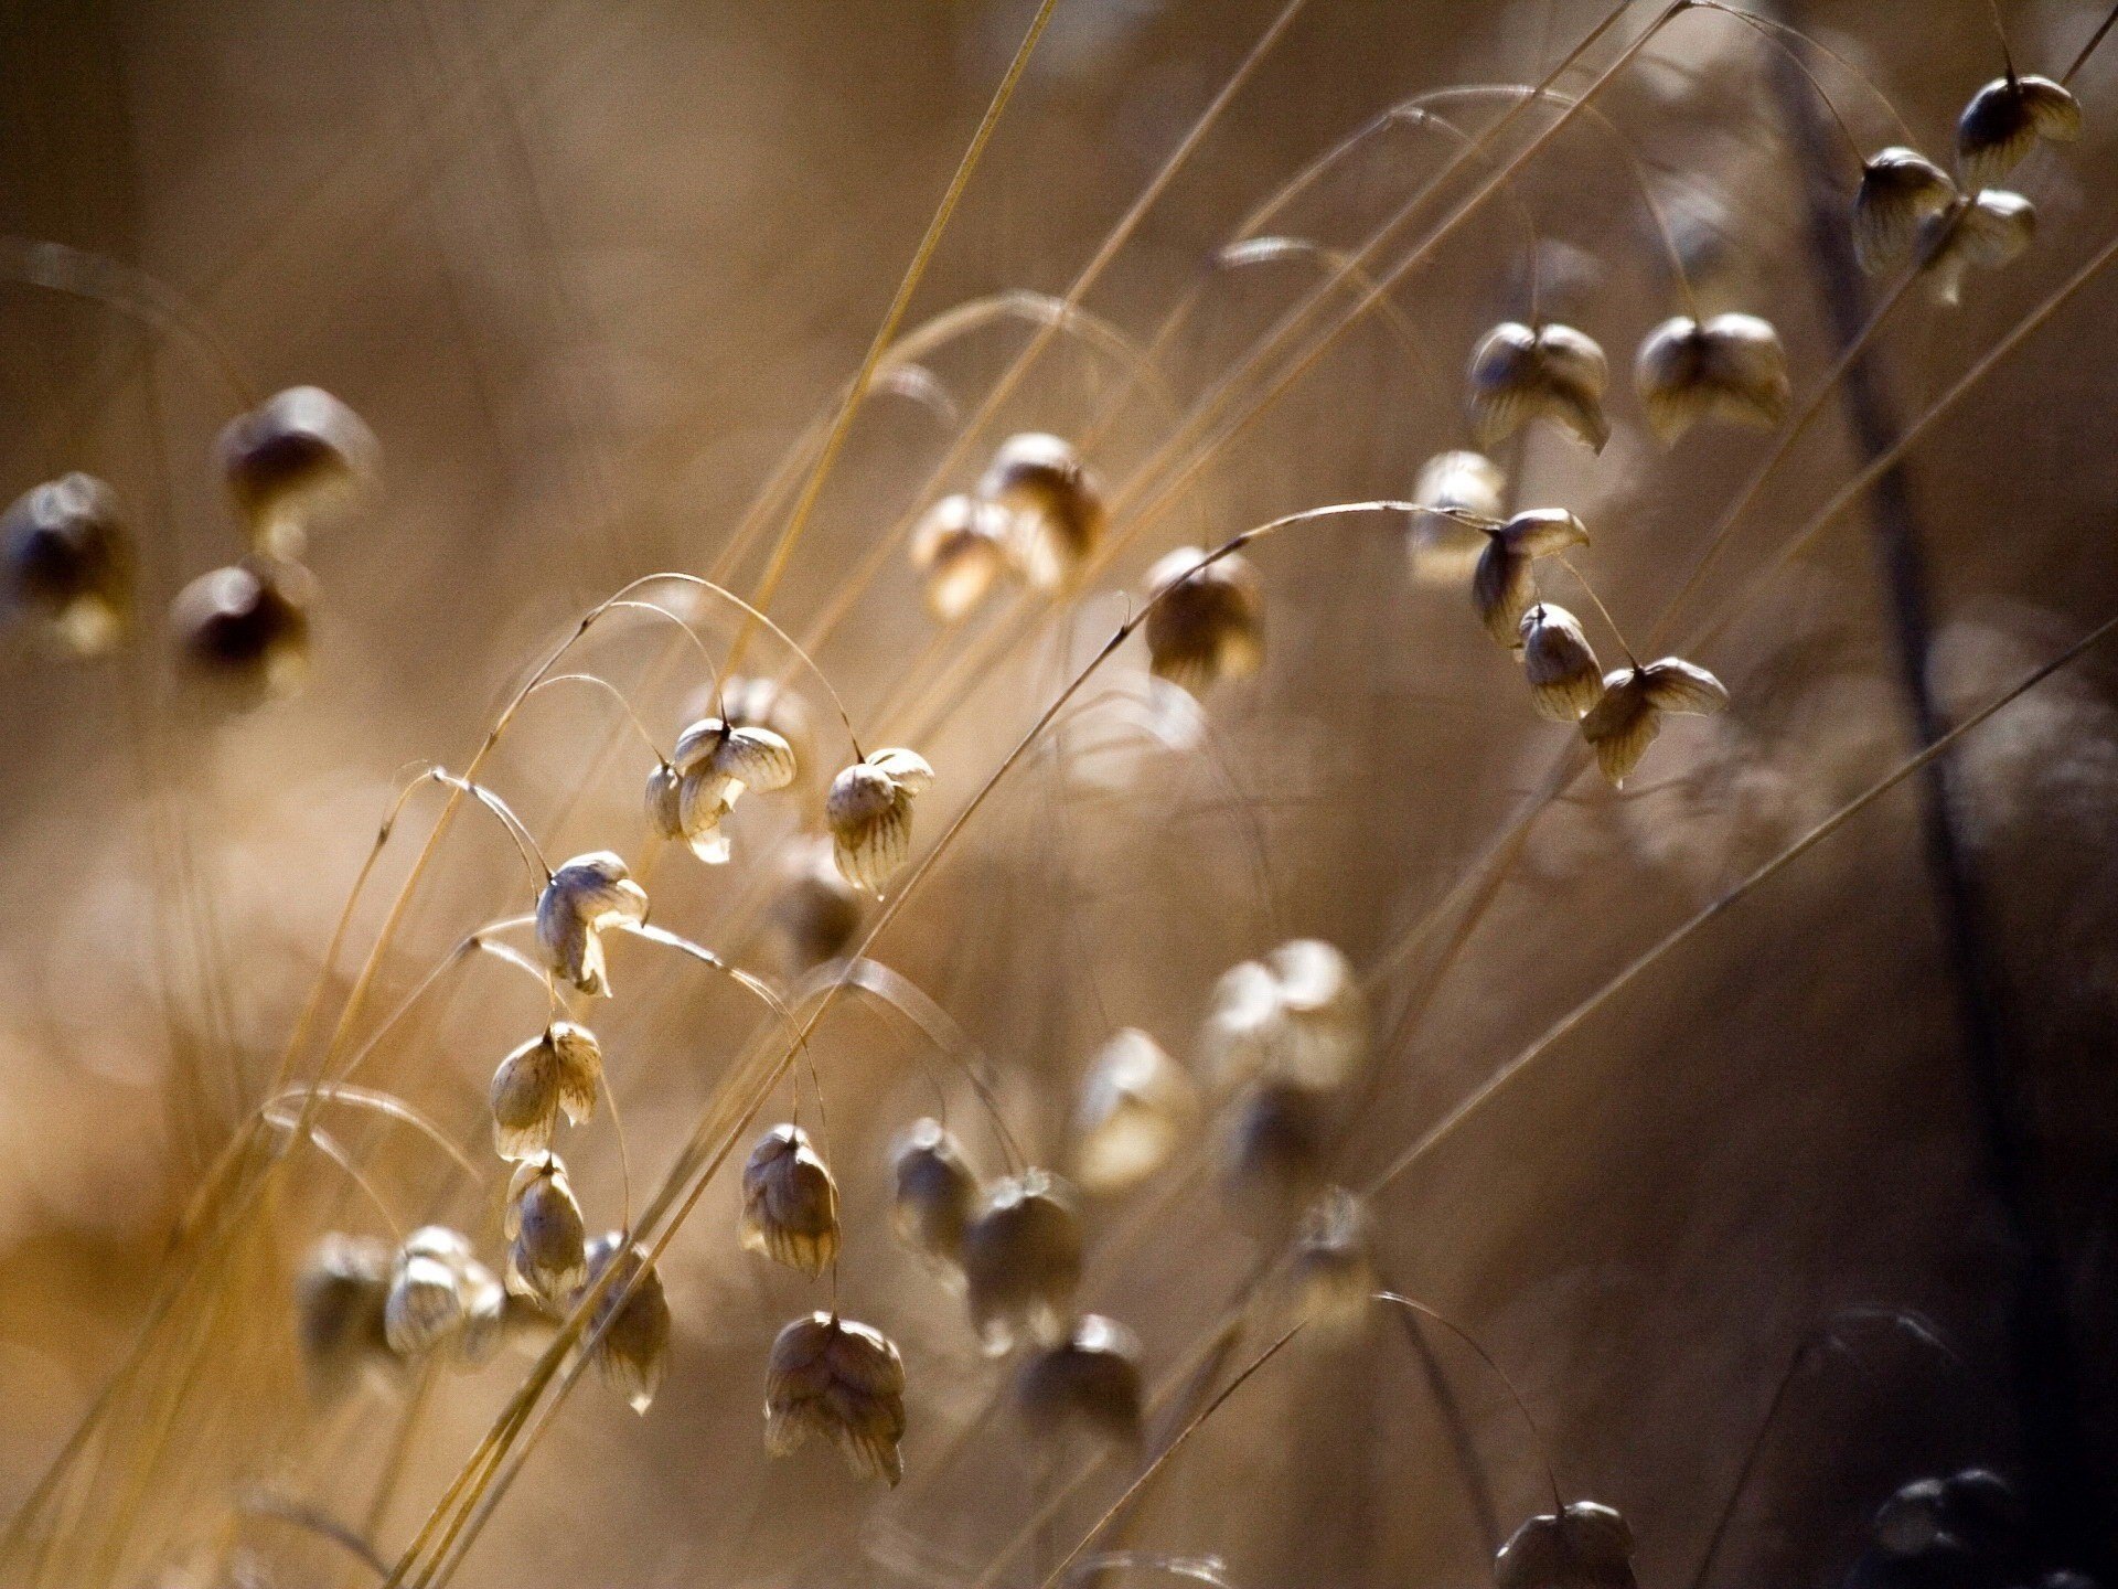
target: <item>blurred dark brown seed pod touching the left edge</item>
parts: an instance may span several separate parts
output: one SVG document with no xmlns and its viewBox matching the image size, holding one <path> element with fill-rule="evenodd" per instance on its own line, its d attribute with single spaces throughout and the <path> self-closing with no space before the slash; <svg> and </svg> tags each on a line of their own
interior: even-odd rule
<svg viewBox="0 0 2118 1589">
<path fill-rule="evenodd" d="M 0 517 L 6 600 L 76 657 L 116 644 L 131 619 L 133 549 L 119 498 L 93 475 L 23 492 Z"/>
</svg>

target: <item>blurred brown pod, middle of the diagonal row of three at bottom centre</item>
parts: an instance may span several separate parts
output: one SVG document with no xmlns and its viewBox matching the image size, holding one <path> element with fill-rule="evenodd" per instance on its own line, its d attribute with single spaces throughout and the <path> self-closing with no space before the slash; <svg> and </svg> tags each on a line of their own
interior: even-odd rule
<svg viewBox="0 0 2118 1589">
<path fill-rule="evenodd" d="M 1072 1189 L 1044 1170 L 995 1180 L 964 1227 L 970 1324 L 989 1356 L 1019 1339 L 1057 1341 L 1080 1284 L 1080 1216 Z"/>
</svg>

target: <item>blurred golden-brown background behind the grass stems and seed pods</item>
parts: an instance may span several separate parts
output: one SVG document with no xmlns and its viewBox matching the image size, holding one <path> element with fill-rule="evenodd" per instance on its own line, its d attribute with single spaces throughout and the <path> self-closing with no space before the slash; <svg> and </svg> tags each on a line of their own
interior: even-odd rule
<svg viewBox="0 0 2118 1589">
<path fill-rule="evenodd" d="M 2002 70 L 1978 0 L 1754 8 L 1843 57 L 1809 59 L 1870 153 L 1900 142 L 1902 114 L 1946 157 L 1961 104 Z M 78 292 L 0 284 L 6 494 L 72 468 L 114 485 L 140 544 L 146 657 L 68 665 L 19 638 L 0 695 L 0 742 L 15 748 L 0 763 L 0 875 L 21 894 L 0 928 L 0 1513 L 32 1496 L 133 1347 L 178 1220 L 265 1093 L 402 771 L 460 769 L 530 667 L 625 581 L 714 570 L 754 589 L 769 538 L 722 568 L 731 536 L 858 367 L 1031 11 L 0 8 L 0 229 L 144 273 L 235 373 Z M 1648 25 L 1652 8 L 1635 11 L 1588 68 Z M 1063 294 L 1277 13 L 1059 0 L 913 322 L 1017 288 Z M 1536 83 L 1603 13 L 1309 0 L 1089 309 L 1142 347 L 1190 299 L 1159 371 L 1169 403 L 1197 400 L 1317 280 L 1305 256 L 1216 265 L 1256 206 L 1413 93 Z M 1999 13 L 2016 64 L 2059 74 L 2103 6 Z M 1675 633 L 1718 617 L 1868 462 L 1874 434 L 1898 434 L 2110 242 L 2118 61 L 2090 57 L 2071 87 L 2084 140 L 2012 178 L 2040 212 L 2031 252 L 1974 278 L 1961 309 L 1921 301 L 1891 322 Z M 1591 456 L 1538 434 L 1506 462 L 1514 500 L 1591 525 L 1582 568 L 1644 636 L 1771 439 L 1701 428 L 1665 449 L 1648 434 L 1625 371 L 1682 305 L 1622 148 L 1671 216 L 1703 307 L 1769 316 L 1798 394 L 1877 288 L 1817 229 L 1849 203 L 1851 155 L 1749 30 L 1680 17 L 1599 106 L 1608 129 L 1555 138 L 1514 193 L 1542 235 L 1544 311 L 1610 352 L 1616 436 Z M 1470 127 L 1493 114 L 1464 106 Z M 1444 159 L 1411 133 L 1375 138 L 1271 231 L 1358 248 Z M 913 570 L 892 559 L 818 661 L 864 744 L 915 744 L 940 771 L 923 833 L 1095 653 L 1125 612 L 1110 591 L 1137 589 L 1156 555 L 1322 502 L 1404 496 L 1421 460 L 1464 445 L 1459 371 L 1487 326 L 1525 311 L 1525 282 L 1523 227 L 1487 206 L 1408 278 L 1398 316 L 1366 316 L 1095 589 L 1036 614 L 968 678 L 949 684 L 959 638 L 936 638 Z M 1569 784 L 1461 949 L 1375 989 L 1375 1074 L 1336 1142 L 1343 1180 L 1387 1167 L 1637 953 L 1910 754 L 1910 676 L 1946 722 L 2112 614 L 2114 311 L 2118 282 L 2099 278 L 2027 337 L 1889 489 L 1697 655 L 1733 712 L 1671 727 L 1622 792 Z M 775 595 L 788 629 L 809 633 L 919 506 L 1031 331 L 995 318 L 926 358 L 932 386 L 911 400 L 896 388 L 870 400 Z M 1120 379 L 1065 339 L 993 434 L 1080 434 Z M 241 551 L 214 434 L 297 383 L 366 419 L 383 489 L 309 549 L 320 595 L 303 693 L 201 725 L 165 689 L 161 612 Z M 1171 422 L 1152 390 L 1116 413 L 1091 462 L 1127 481 Z M 1402 521 L 1328 521 L 1256 561 L 1262 674 L 1201 712 L 1150 691 L 1135 655 L 1116 659 L 1108 678 L 1133 706 L 1084 714 L 1002 784 L 875 949 L 989 1055 L 1042 1161 L 1065 1167 L 1074 1093 L 1112 1030 L 1144 1028 L 1186 1057 L 1214 979 L 1281 939 L 1328 939 L 1360 968 L 1387 960 L 1559 744 L 1461 591 L 1408 574 Z M 737 627 L 718 608 L 697 619 L 718 644 Z M 667 746 L 705 678 L 657 667 L 665 644 L 648 623 L 614 623 L 578 665 L 627 689 Z M 1995 1589 L 2118 1551 L 2114 678 L 2095 653 L 1995 716 L 1946 758 L 1944 786 L 1904 782 L 1745 894 L 1375 1199 L 1383 1280 L 1508 1369 L 1567 1498 L 1631 1519 L 1644 1583 L 1694 1578 L 1745 1468 L 1713 1559 L 1722 1583 L 1872 1570 L 1874 1508 L 1968 1464 L 2035 1492 L 2038 1542 Z M 943 682 L 921 693 L 923 680 Z M 828 778 L 843 737 L 824 701 L 809 706 Z M 642 860 L 650 761 L 612 739 L 614 722 L 591 691 L 540 695 L 485 771 L 553 858 Z M 786 975 L 746 900 L 813 811 L 813 778 L 801 799 L 746 807 L 731 869 L 667 856 L 654 920 Z M 434 797 L 417 799 L 424 835 Z M 326 1008 L 415 845 L 383 852 Z M 362 1030 L 466 932 L 521 909 L 498 826 L 460 822 Z M 638 1203 L 756 1006 L 638 945 L 614 949 L 614 979 L 623 996 L 595 1025 Z M 489 1161 L 487 1078 L 540 1004 L 504 968 L 472 970 L 383 1034 L 366 1083 Z M 1101 1515 L 1118 1466 L 991 1566 L 1072 1453 L 1023 1430 L 1008 1369 L 890 1239 L 887 1144 L 932 1108 L 917 1049 L 902 1023 L 849 1011 L 815 1051 L 845 1199 L 843 1303 L 898 1341 L 911 1377 L 902 1489 L 858 1481 L 820 1447 L 765 1456 L 765 1350 L 786 1318 L 828 1303 L 737 1250 L 733 1191 L 716 1184 L 663 1263 L 676 1341 L 654 1409 L 635 1420 L 585 1383 L 464 1583 L 955 1585 L 991 1568 L 1036 1585 Z M 974 1100 L 951 1087 L 951 1123 L 998 1167 Z M 498 1170 L 464 1186 L 388 1123 L 347 1121 L 343 1140 L 405 1222 L 445 1218 L 498 1246 Z M 1146 1186 L 1087 1206 L 1082 1305 L 1139 1333 L 1150 1383 L 1260 1261 L 1201 1155 L 1205 1136 Z M 570 1136 L 568 1159 L 591 1227 L 616 1225 L 610 1133 Z M 388 1231 L 320 1155 L 297 1186 L 269 1210 L 252 1288 L 212 1324 L 227 1350 L 208 1381 L 172 1396 L 167 1420 L 123 1411 L 106 1434 L 106 1462 L 150 1430 L 169 1439 L 144 1468 L 146 1498 L 127 1498 L 138 1530 L 74 1583 L 347 1581 L 343 1551 L 246 1502 L 258 1494 L 369 1515 L 392 1559 L 532 1360 L 519 1345 L 434 1383 L 371 1513 L 411 1390 L 311 1405 L 288 1288 L 318 1233 Z M 1949 1352 L 1870 1314 L 1838 1318 L 1838 1347 L 1802 1352 L 1843 1309 L 1917 1316 Z M 85 1479 L 72 1504 L 102 1511 L 114 1483 Z M 1169 1464 L 1125 1542 L 1220 1557 L 1241 1589 L 1476 1583 L 1546 1504 L 1536 1445 L 1476 1358 L 1375 1318 L 1351 1343 L 1290 1345 Z"/>
</svg>

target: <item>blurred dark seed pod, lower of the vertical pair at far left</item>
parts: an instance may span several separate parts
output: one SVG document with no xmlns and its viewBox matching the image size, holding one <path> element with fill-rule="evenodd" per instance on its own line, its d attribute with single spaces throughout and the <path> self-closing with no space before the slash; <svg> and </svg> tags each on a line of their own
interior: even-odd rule
<svg viewBox="0 0 2118 1589">
<path fill-rule="evenodd" d="M 313 604 L 301 564 L 244 557 L 199 574 L 169 604 L 184 674 L 231 710 L 292 695 L 309 672 Z"/>
</svg>

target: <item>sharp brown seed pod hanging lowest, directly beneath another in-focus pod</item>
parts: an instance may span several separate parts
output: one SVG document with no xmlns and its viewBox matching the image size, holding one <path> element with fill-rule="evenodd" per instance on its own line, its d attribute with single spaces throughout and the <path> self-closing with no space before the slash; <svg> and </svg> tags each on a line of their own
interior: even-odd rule
<svg viewBox="0 0 2118 1589">
<path fill-rule="evenodd" d="M 765 1449 L 786 1456 L 811 1434 L 862 1477 L 904 1477 L 904 1360 L 881 1331 L 837 1314 L 779 1331 L 765 1367 Z"/>
</svg>

